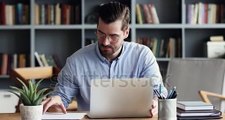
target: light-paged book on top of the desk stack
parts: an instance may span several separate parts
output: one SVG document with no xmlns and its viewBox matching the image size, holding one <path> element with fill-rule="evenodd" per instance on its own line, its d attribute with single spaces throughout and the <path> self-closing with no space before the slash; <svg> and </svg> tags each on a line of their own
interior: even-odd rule
<svg viewBox="0 0 225 120">
<path fill-rule="evenodd" d="M 182 110 L 213 110 L 214 106 L 202 101 L 178 101 L 177 108 Z"/>
</svg>

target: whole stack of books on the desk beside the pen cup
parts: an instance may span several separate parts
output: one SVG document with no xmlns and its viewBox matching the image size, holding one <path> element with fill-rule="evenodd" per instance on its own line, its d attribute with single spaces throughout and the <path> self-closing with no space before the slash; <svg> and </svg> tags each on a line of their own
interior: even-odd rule
<svg viewBox="0 0 225 120">
<path fill-rule="evenodd" d="M 212 104 L 202 101 L 178 101 L 177 118 L 179 120 L 190 119 L 220 119 L 221 112 Z"/>
</svg>

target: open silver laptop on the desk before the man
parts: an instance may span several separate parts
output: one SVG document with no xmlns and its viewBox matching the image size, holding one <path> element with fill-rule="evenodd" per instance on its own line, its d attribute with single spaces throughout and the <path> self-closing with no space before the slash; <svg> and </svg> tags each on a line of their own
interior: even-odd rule
<svg viewBox="0 0 225 120">
<path fill-rule="evenodd" d="M 90 118 L 149 117 L 153 98 L 150 78 L 91 81 Z"/>
</svg>

